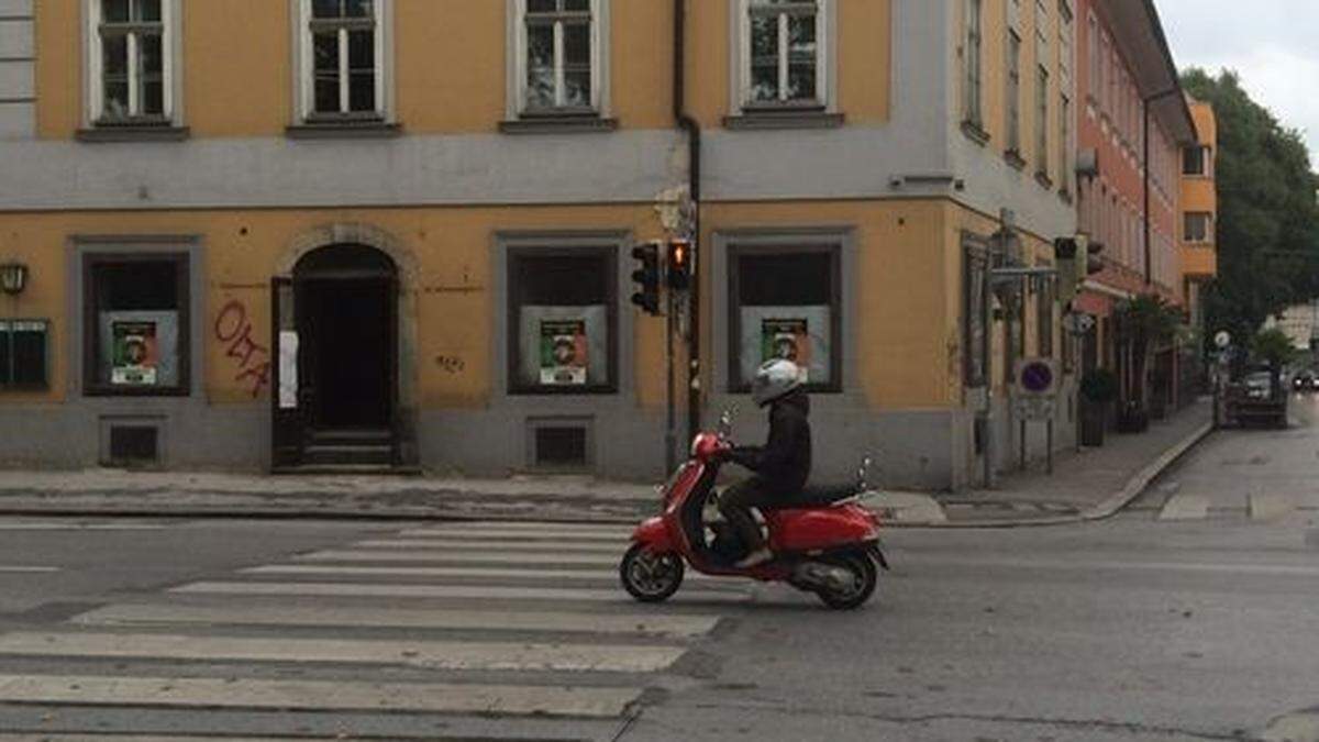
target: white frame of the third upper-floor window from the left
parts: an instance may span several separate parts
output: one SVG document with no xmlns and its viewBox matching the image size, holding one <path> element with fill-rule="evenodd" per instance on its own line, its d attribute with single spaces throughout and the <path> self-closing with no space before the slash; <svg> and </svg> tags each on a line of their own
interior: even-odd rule
<svg viewBox="0 0 1319 742">
<path fill-rule="evenodd" d="M 526 0 L 508 0 L 508 107 L 509 119 L 538 116 L 600 116 L 609 115 L 609 5 L 611 0 L 591 0 L 591 107 L 528 108 L 526 106 Z M 555 30 L 558 38 L 562 32 Z M 555 55 L 562 55 L 562 45 L 555 44 Z M 562 77 L 562 61 L 555 62 Z"/>
</svg>

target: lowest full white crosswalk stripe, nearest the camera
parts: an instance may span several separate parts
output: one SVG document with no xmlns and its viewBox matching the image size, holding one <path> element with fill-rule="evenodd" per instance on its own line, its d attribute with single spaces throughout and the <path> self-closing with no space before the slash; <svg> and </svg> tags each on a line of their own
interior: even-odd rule
<svg viewBox="0 0 1319 742">
<path fill-rule="evenodd" d="M 0 676 L 0 702 L 613 718 L 638 688 L 104 676 Z"/>
</svg>

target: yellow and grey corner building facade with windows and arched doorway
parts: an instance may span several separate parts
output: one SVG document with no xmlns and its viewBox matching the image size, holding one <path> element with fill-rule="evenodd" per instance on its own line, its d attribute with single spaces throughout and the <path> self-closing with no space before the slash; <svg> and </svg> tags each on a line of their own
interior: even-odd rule
<svg viewBox="0 0 1319 742">
<path fill-rule="evenodd" d="M 630 248 L 689 231 L 679 438 L 691 388 L 762 436 L 790 346 L 818 479 L 964 487 L 1013 455 L 1012 362 L 1066 353 L 1047 281 L 975 293 L 1075 231 L 1066 1 L 18 5 L 8 465 L 658 477 Z"/>
</svg>

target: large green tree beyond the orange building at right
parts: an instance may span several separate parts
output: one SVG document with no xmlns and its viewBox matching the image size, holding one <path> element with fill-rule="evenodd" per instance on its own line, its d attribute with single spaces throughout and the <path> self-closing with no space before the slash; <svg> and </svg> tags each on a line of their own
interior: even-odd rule
<svg viewBox="0 0 1319 742">
<path fill-rule="evenodd" d="M 1208 329 L 1249 338 L 1270 314 L 1319 296 L 1319 205 L 1295 129 L 1250 100 L 1236 73 L 1192 69 L 1187 92 L 1213 106 L 1219 276 L 1206 293 Z"/>
</svg>

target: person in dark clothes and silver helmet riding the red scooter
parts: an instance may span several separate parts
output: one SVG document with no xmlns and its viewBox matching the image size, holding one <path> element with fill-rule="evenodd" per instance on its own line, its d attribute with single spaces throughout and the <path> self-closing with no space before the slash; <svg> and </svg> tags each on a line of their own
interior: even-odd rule
<svg viewBox="0 0 1319 742">
<path fill-rule="evenodd" d="M 751 512 L 798 494 L 811 473 L 811 405 L 802 388 L 801 370 L 786 359 L 768 360 L 756 371 L 751 387 L 757 407 L 769 405 L 769 440 L 764 446 L 736 446 L 724 457 L 754 471 L 728 487 L 719 498 L 719 511 L 737 531 L 747 556 L 737 568 L 774 558 Z"/>
</svg>

